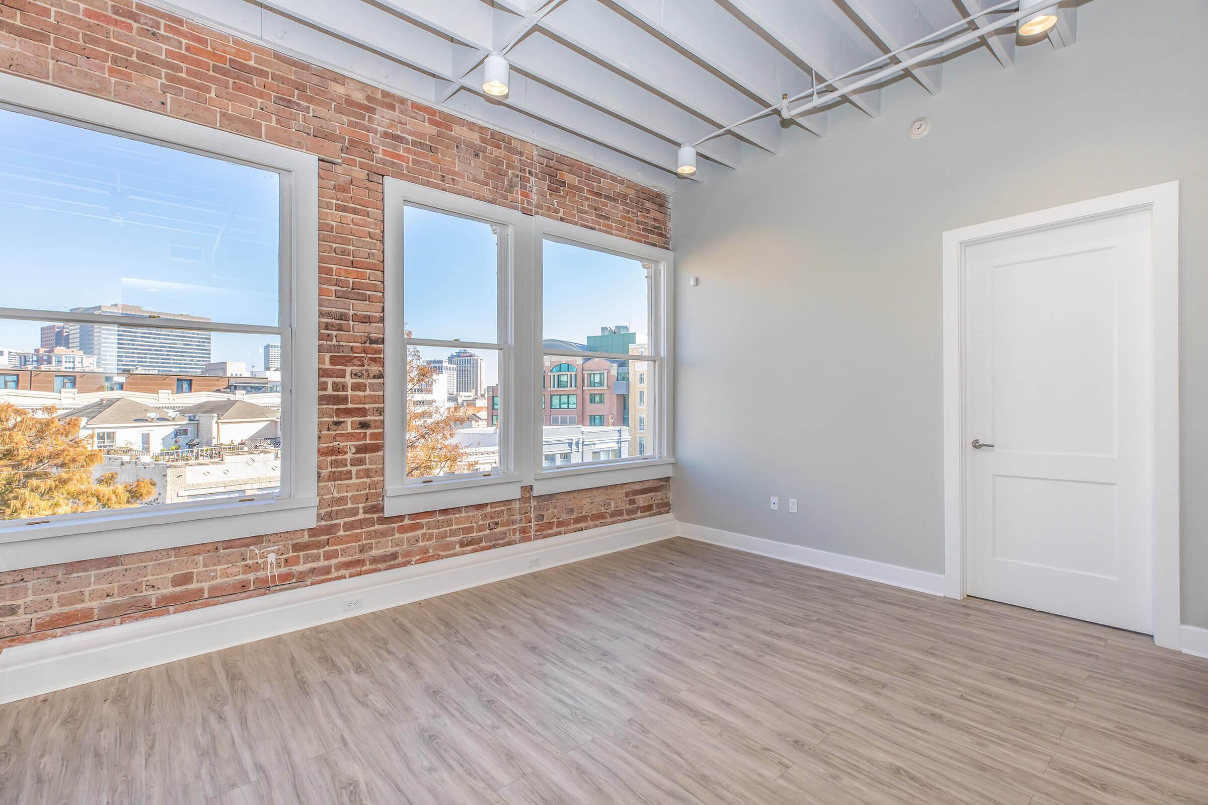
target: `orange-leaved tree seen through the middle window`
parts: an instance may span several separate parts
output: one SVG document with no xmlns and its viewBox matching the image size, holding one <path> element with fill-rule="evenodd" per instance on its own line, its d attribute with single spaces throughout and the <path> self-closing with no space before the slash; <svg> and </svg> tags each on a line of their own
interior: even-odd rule
<svg viewBox="0 0 1208 805">
<path fill-rule="evenodd" d="M 470 469 L 466 449 L 454 436 L 458 428 L 469 426 L 474 412 L 423 399 L 419 395 L 430 395 L 435 379 L 436 369 L 424 363 L 419 350 L 412 346 L 407 351 L 407 478 Z"/>
</svg>

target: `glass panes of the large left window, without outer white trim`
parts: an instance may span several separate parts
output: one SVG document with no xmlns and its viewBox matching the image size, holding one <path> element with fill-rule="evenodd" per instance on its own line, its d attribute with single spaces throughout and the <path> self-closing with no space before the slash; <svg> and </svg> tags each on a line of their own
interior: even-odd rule
<svg viewBox="0 0 1208 805">
<path fill-rule="evenodd" d="M 41 484 L 21 504 L 0 501 L 0 520 L 42 525 L 97 513 L 62 526 L 87 531 L 111 527 L 98 518 L 116 509 L 283 497 L 280 372 L 259 379 L 274 386 L 274 398 L 260 401 L 271 404 L 254 406 L 259 421 L 222 430 L 222 413 L 210 418 L 220 422 L 210 431 L 220 451 L 201 455 L 178 439 L 193 413 L 173 399 L 196 380 L 209 385 L 203 402 L 230 408 L 236 393 L 211 374 L 214 358 L 225 358 L 219 374 L 251 380 L 254 363 L 232 372 L 242 352 L 228 348 L 244 339 L 250 351 L 280 348 L 281 322 L 292 319 L 279 293 L 289 253 L 281 171 L 7 109 L 0 165 L 0 238 L 11 246 L 0 272 L 12 278 L 0 343 L 25 350 L 29 373 L 23 397 L 0 389 L 0 403 L 13 406 L 0 427 L 53 418 L 53 461 L 17 472 L 64 480 Z M 47 321 L 47 310 L 63 317 Z M 181 383 L 181 373 L 191 377 Z M 152 398 L 158 392 L 168 397 Z M 97 430 L 106 422 L 115 427 Z M 184 473 L 165 472 L 168 448 Z M 207 486 L 220 474 L 223 483 Z"/>
</svg>

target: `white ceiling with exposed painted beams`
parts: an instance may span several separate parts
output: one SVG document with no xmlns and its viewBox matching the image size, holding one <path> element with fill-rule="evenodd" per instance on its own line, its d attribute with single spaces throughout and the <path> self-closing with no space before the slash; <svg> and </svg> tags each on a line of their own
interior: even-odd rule
<svg viewBox="0 0 1208 805">
<path fill-rule="evenodd" d="M 815 80 L 846 75 L 942 28 L 954 25 L 946 35 L 952 37 L 1015 11 L 1009 6 L 962 24 L 1001 0 L 155 1 L 664 191 L 737 169 L 751 151 L 779 151 L 788 127 L 825 136 L 838 104 L 876 116 L 881 93 L 898 88 L 887 77 L 792 122 L 767 113 L 736 127 L 699 146 L 692 180 L 675 174 L 680 142 L 695 142 L 779 104 L 782 93 L 806 93 Z M 1064 39 L 1051 37 L 1053 46 L 1073 41 L 1078 0 L 1063 2 L 1069 4 Z M 1015 27 L 971 46 L 1009 68 Z M 504 100 L 481 89 L 482 62 L 492 52 L 506 53 L 512 65 Z M 908 75 L 937 93 L 943 69 L 939 59 Z"/>
</svg>

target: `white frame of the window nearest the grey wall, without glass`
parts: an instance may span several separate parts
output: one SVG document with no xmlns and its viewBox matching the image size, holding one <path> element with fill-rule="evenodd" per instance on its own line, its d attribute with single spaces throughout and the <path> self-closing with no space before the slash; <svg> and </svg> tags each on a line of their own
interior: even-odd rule
<svg viewBox="0 0 1208 805">
<path fill-rule="evenodd" d="M 674 298 L 675 287 L 675 259 L 674 255 L 666 249 L 646 246 L 633 240 L 617 238 L 616 235 L 585 229 L 564 221 L 535 217 L 533 226 L 533 363 L 530 371 L 538 380 L 544 372 L 545 356 L 557 356 L 565 358 L 593 358 L 617 360 L 620 356 L 609 352 L 571 352 L 562 350 L 546 350 L 544 343 L 544 299 L 542 299 L 542 256 L 545 252 L 545 240 L 556 240 L 573 246 L 593 249 L 596 251 L 609 252 L 620 257 L 640 261 L 650 267 L 647 272 L 647 328 L 649 345 L 646 355 L 640 357 L 649 363 L 645 369 L 647 389 L 654 392 L 654 403 L 647 408 L 650 420 L 654 425 L 654 438 L 646 441 L 652 444 L 655 451 L 650 456 L 627 456 L 625 459 L 611 459 L 608 461 L 592 462 L 590 465 L 571 465 L 569 467 L 548 468 L 542 466 L 542 424 L 544 416 L 540 406 L 535 406 L 533 414 L 534 441 L 532 463 L 533 469 L 533 494 L 550 495 L 553 492 L 573 491 L 576 489 L 590 489 L 592 486 L 605 486 L 610 484 L 623 484 L 637 480 L 651 480 L 655 478 L 668 478 L 672 474 L 675 456 L 673 453 L 674 433 L 672 428 L 673 378 L 674 378 Z M 631 364 L 637 356 L 631 356 Z M 631 367 L 629 392 L 633 393 L 634 374 Z M 633 422 L 631 422 L 631 426 Z M 632 432 L 631 432 L 632 433 Z"/>
</svg>

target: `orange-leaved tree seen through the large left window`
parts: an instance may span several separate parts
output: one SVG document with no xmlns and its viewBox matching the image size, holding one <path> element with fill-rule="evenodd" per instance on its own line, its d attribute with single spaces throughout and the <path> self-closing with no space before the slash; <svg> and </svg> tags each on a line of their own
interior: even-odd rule
<svg viewBox="0 0 1208 805">
<path fill-rule="evenodd" d="M 138 506 L 155 482 L 117 483 L 117 473 L 93 476 L 104 460 L 79 419 L 54 408 L 29 412 L 0 401 L 0 520 Z"/>
</svg>

